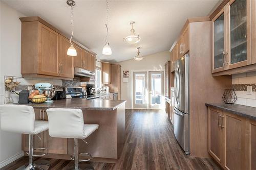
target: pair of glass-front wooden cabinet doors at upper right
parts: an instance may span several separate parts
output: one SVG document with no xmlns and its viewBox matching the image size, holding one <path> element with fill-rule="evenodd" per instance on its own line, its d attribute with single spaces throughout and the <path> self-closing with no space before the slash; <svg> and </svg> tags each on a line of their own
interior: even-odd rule
<svg viewBox="0 0 256 170">
<path fill-rule="evenodd" d="M 212 72 L 251 64 L 250 7 L 251 0 L 231 0 L 212 19 Z"/>
</svg>

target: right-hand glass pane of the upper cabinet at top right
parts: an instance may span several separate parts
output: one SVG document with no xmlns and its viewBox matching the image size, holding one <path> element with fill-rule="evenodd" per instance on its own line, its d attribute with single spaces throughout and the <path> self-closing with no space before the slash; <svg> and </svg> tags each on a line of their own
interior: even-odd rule
<svg viewBox="0 0 256 170">
<path fill-rule="evenodd" d="M 246 1 L 236 0 L 230 5 L 230 64 L 247 60 Z"/>
</svg>

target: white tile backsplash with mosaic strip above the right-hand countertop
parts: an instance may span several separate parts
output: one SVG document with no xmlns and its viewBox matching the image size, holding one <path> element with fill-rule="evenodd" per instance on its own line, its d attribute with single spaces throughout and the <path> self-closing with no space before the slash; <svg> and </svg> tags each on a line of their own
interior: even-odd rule
<svg viewBox="0 0 256 170">
<path fill-rule="evenodd" d="M 247 86 L 252 86 L 251 94 Z M 232 88 L 238 97 L 236 104 L 256 107 L 256 71 L 232 75 Z"/>
</svg>

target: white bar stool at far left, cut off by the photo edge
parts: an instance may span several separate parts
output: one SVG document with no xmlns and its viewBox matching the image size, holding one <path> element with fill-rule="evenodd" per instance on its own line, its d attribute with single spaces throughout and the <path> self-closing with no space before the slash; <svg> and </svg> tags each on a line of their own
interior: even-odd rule
<svg viewBox="0 0 256 170">
<path fill-rule="evenodd" d="M 29 135 L 29 152 L 27 153 L 29 155 L 29 165 L 27 167 L 25 165 L 19 167 L 17 168 L 18 170 L 44 169 L 41 167 L 41 165 L 47 165 L 50 167 L 50 163 L 47 161 L 40 164 L 33 163 L 33 156 L 45 156 L 48 154 L 48 149 L 33 149 L 34 135 L 48 130 L 48 122 L 35 120 L 35 112 L 33 107 L 25 105 L 1 105 L 0 120 L 1 129 L 3 131 Z M 34 150 L 45 150 L 46 153 L 34 155 Z"/>
</svg>

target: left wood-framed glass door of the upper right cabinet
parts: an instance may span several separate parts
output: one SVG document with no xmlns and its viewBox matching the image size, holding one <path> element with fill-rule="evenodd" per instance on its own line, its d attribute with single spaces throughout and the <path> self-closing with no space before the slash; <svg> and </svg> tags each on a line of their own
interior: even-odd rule
<svg viewBox="0 0 256 170">
<path fill-rule="evenodd" d="M 225 64 L 226 27 L 225 8 L 212 19 L 212 72 L 223 71 Z"/>
</svg>

